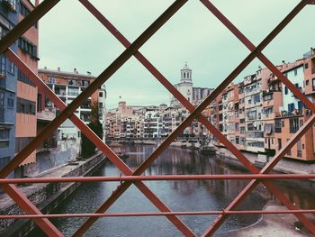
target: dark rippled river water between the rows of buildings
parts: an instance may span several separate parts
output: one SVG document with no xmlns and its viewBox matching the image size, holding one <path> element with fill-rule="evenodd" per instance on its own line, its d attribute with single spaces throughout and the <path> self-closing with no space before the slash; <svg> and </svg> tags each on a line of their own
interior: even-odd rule
<svg viewBox="0 0 315 237">
<path fill-rule="evenodd" d="M 128 152 L 126 160 L 131 169 L 136 169 L 155 149 L 149 145 L 125 145 L 113 148 L 115 151 Z M 201 155 L 198 151 L 168 148 L 145 171 L 145 175 L 188 175 L 188 174 L 238 174 L 245 170 L 225 164 L 222 159 Z M 94 176 L 117 176 L 120 171 L 111 162 L 107 162 Z M 221 210 L 233 200 L 247 185 L 248 180 L 198 180 L 198 181 L 147 181 L 147 186 L 173 211 L 210 211 Z M 112 194 L 118 182 L 84 183 L 56 213 L 93 213 L 103 201 Z M 302 208 L 314 208 L 315 195 L 311 191 L 297 190 L 296 185 L 278 182 L 277 186 L 284 191 L 294 203 Z M 239 206 L 242 210 L 258 210 L 267 201 L 275 200 L 264 187 L 258 186 L 255 191 Z M 157 212 L 157 208 L 140 193 L 137 187 L 131 186 L 112 205 L 108 212 Z M 197 235 L 214 220 L 214 215 L 181 216 Z M 217 233 L 229 232 L 252 223 L 259 215 L 231 215 L 221 225 Z M 70 236 L 85 218 L 55 219 L 54 223 L 66 236 Z M 40 236 L 33 232 L 31 236 Z M 166 217 L 104 217 L 100 218 L 85 236 L 182 236 Z"/>
</svg>

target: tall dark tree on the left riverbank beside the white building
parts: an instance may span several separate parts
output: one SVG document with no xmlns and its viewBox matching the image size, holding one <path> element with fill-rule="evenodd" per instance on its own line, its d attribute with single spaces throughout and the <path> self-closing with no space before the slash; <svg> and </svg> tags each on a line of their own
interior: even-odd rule
<svg viewBox="0 0 315 237">
<path fill-rule="evenodd" d="M 102 140 L 103 139 L 103 126 L 99 121 L 98 103 L 97 101 L 91 102 L 91 122 L 87 126 Z M 87 159 L 95 154 L 96 146 L 84 134 L 81 140 L 81 154 L 84 159 Z"/>
</svg>

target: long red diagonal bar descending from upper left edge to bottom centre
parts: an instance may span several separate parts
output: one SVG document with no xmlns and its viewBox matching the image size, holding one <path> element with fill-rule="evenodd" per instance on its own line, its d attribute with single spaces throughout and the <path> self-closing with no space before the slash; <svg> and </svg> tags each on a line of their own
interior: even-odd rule
<svg viewBox="0 0 315 237">
<path fill-rule="evenodd" d="M 5 52 L 6 56 L 11 59 L 15 65 L 20 68 L 23 73 L 31 79 L 31 81 L 39 87 L 39 89 L 46 94 L 46 96 L 49 96 L 50 100 L 58 106 L 60 110 L 63 110 L 67 107 L 66 104 L 58 97 L 56 96 L 49 87 L 45 83 L 43 83 L 40 80 L 40 77 L 38 77 L 36 74 L 34 74 L 31 71 L 31 68 L 28 68 L 27 65 L 23 63 L 21 59 L 19 59 L 12 50 L 8 50 Z M 103 143 L 103 141 L 94 134 L 86 125 L 83 123 L 79 118 L 76 117 L 75 114 L 72 114 L 70 117 L 70 120 L 76 124 L 76 126 L 81 129 L 81 132 L 85 134 L 86 137 L 88 137 L 91 141 L 94 142 L 96 147 L 98 147 L 100 150 L 103 151 L 104 154 L 106 154 L 107 158 L 112 161 L 113 164 L 117 166 L 118 169 L 121 170 L 121 172 L 125 175 L 131 175 L 132 170 L 121 161 L 121 159 L 106 145 Z M 160 211 L 170 211 L 170 209 L 161 202 L 157 196 L 155 196 L 152 192 L 148 190 L 148 187 L 145 186 L 145 184 L 139 182 L 136 184 L 137 187 L 141 188 L 141 191 L 145 196 L 148 197 L 148 199 L 157 206 L 157 208 Z M 175 223 L 175 226 L 181 227 L 184 229 L 184 224 L 181 223 L 181 221 L 175 217 L 175 216 L 169 216 L 167 217 L 170 219 L 171 222 Z M 188 232 L 188 230 L 186 231 Z"/>
</svg>

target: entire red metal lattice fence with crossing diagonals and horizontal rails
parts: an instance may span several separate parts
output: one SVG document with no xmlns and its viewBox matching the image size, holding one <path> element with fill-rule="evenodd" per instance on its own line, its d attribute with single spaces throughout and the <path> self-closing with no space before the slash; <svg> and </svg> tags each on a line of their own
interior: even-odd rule
<svg viewBox="0 0 315 237">
<path fill-rule="evenodd" d="M 295 214 L 295 216 L 304 224 L 306 228 L 313 234 L 315 234 L 315 225 L 311 223 L 311 220 L 308 219 L 304 214 L 305 213 L 315 213 L 315 210 L 299 210 L 297 206 L 293 205 L 279 190 L 274 186 L 272 179 L 275 178 L 315 178 L 314 175 L 270 175 L 268 174 L 271 169 L 275 167 L 279 160 L 284 157 L 284 154 L 287 153 L 293 145 L 302 137 L 305 132 L 312 126 L 315 121 L 315 105 L 302 94 L 302 92 L 294 87 L 291 81 L 284 77 L 284 75 L 275 67 L 275 65 L 266 58 L 262 53 L 262 50 L 275 39 L 275 36 L 281 32 L 284 27 L 290 23 L 293 18 L 299 14 L 304 7 L 308 5 L 314 5 L 314 0 L 302 0 L 298 5 L 296 5 L 292 12 L 290 12 L 284 20 L 279 23 L 275 29 L 270 32 L 266 38 L 258 45 L 255 46 L 247 37 L 238 30 L 238 28 L 230 23 L 227 17 L 220 13 L 220 11 L 211 4 L 209 0 L 201 0 L 201 4 L 204 5 L 211 14 L 214 14 L 221 23 L 223 23 L 230 32 L 232 32 L 239 41 L 241 41 L 248 50 L 251 52 L 247 55 L 247 58 L 241 61 L 237 68 L 235 68 L 228 77 L 226 77 L 217 87 L 210 96 L 208 96 L 201 105 L 194 107 L 188 100 L 181 95 L 175 87 L 164 77 L 158 70 L 155 68 L 148 59 L 145 58 L 140 52 L 139 48 L 146 42 L 148 39 L 155 33 L 157 30 L 163 26 L 167 20 L 174 15 L 177 11 L 188 0 L 176 0 L 172 5 L 170 5 L 166 11 L 161 14 L 157 20 L 152 23 L 147 30 L 142 32 L 136 41 L 130 43 L 122 34 L 119 32 L 113 25 L 110 23 L 104 16 L 101 14 L 88 0 L 79 0 L 79 2 L 85 6 L 85 8 L 94 15 L 97 20 L 103 24 L 103 26 L 111 32 L 118 41 L 126 47 L 121 55 L 112 61 L 112 63 L 103 70 L 103 72 L 96 77 L 93 83 L 86 87 L 76 99 L 70 104 L 66 105 L 58 96 L 56 96 L 49 87 L 47 87 L 30 68 L 28 68 L 23 60 L 17 57 L 17 55 L 9 49 L 9 46 L 14 43 L 20 36 L 23 35 L 23 32 L 26 32 L 31 28 L 32 25 L 37 23 L 40 18 L 49 12 L 51 8 L 58 4 L 58 0 L 45 0 L 40 5 L 38 5 L 28 16 L 26 16 L 21 23 L 18 23 L 14 29 L 8 32 L 4 38 L 0 41 L 0 53 L 11 59 L 14 64 L 29 78 L 31 81 L 43 91 L 49 99 L 58 106 L 58 109 L 62 111 L 58 116 L 49 123 L 40 134 L 34 138 L 20 153 L 18 153 L 13 160 L 1 169 L 0 171 L 0 183 L 4 188 L 4 191 L 14 199 L 17 205 L 21 207 L 25 214 L 23 215 L 2 215 L 0 218 L 29 218 L 34 221 L 40 229 L 49 236 L 63 236 L 61 232 L 49 221 L 49 218 L 53 217 L 75 217 L 75 216 L 87 216 L 88 219 L 83 223 L 78 230 L 73 234 L 73 236 L 81 236 L 88 230 L 92 224 L 102 216 L 143 216 L 143 215 L 164 215 L 166 218 L 175 225 L 175 227 L 182 232 L 185 236 L 195 236 L 195 233 L 178 218 L 179 215 L 191 215 L 191 214 L 216 214 L 217 218 L 209 226 L 205 232 L 202 233 L 202 236 L 209 236 L 214 233 L 220 225 L 226 220 L 230 214 Z M 148 69 L 148 71 L 157 78 L 157 80 L 164 86 L 166 89 L 173 95 L 175 98 L 190 111 L 190 115 L 181 123 L 174 132 L 172 132 L 165 141 L 163 141 L 160 146 L 145 160 L 138 169 L 133 171 L 130 169 L 106 144 L 100 140 L 94 132 L 92 132 L 86 125 L 83 123 L 77 116 L 74 114 L 76 108 L 79 105 L 82 105 L 85 100 L 91 96 L 94 91 L 103 85 L 103 83 L 109 79 L 118 68 L 130 59 L 131 56 L 134 56 L 139 62 Z M 284 147 L 279 150 L 275 157 L 264 167 L 263 169 L 257 169 L 247 158 L 234 147 L 227 138 L 224 137 L 205 117 L 202 116 L 203 109 L 207 105 L 210 105 L 211 101 L 214 100 L 217 96 L 220 95 L 220 92 L 233 81 L 238 74 L 247 67 L 247 65 L 255 58 L 260 59 L 267 68 L 269 68 L 276 77 L 278 77 L 286 87 L 288 87 L 293 94 L 298 97 L 302 103 L 308 107 L 312 115 L 310 119 L 302 125 L 298 132 L 293 134 L 293 137 L 288 141 Z M 36 149 L 40 142 L 46 139 L 49 134 L 55 131 L 58 126 L 63 123 L 66 119 L 70 119 L 76 126 L 85 134 L 86 137 L 90 138 L 91 141 L 97 146 L 99 150 L 103 151 L 103 154 L 107 156 L 112 163 L 121 170 L 123 176 L 121 177 L 95 177 L 95 178 L 25 178 L 25 179 L 7 179 L 6 177 L 25 160 L 33 150 Z M 251 175 L 193 175 L 193 176 L 141 176 L 143 171 L 148 168 L 148 166 L 158 158 L 158 156 L 165 150 L 175 138 L 184 131 L 184 129 L 193 122 L 194 119 L 198 119 L 211 133 L 213 133 L 222 144 L 226 146 L 237 158 L 238 160 L 252 173 Z M 142 181 L 143 180 L 189 180 L 189 179 L 228 179 L 228 178 L 248 178 L 252 179 L 247 187 L 245 187 L 238 196 L 224 209 L 220 211 L 204 211 L 204 212 L 173 212 L 169 207 L 167 207 Z M 104 200 L 103 205 L 101 205 L 94 214 L 41 214 L 40 210 L 27 199 L 26 196 L 15 187 L 14 184 L 21 182 L 35 183 L 35 182 L 87 182 L 87 181 L 110 181 L 110 180 L 119 180 L 121 185 L 116 188 L 107 200 Z M 248 194 L 255 188 L 257 185 L 262 182 L 266 188 L 268 188 L 274 196 L 285 205 L 288 210 L 275 210 L 275 211 L 235 211 L 236 207 L 248 196 Z M 135 185 L 139 190 L 147 196 L 148 200 L 160 211 L 159 213 L 106 213 L 107 209 L 121 196 L 131 185 Z"/>
</svg>

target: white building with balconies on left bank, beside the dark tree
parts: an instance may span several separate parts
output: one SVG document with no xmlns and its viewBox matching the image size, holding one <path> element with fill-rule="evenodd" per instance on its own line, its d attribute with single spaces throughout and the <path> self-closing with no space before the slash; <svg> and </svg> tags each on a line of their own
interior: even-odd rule
<svg viewBox="0 0 315 237">
<path fill-rule="evenodd" d="M 48 68 L 39 69 L 40 78 L 49 86 L 49 88 L 56 93 L 59 98 L 69 105 L 82 91 L 85 90 L 90 83 L 95 79 L 90 72 L 85 75 L 78 73 L 76 68 L 73 72 L 61 71 L 60 68 L 52 70 Z M 104 86 L 100 87 L 94 94 L 85 101 L 83 105 L 77 108 L 75 114 L 85 123 L 91 122 L 91 108 L 94 105 L 99 109 L 99 121 L 105 128 L 105 99 L 106 89 Z M 55 107 L 47 97 L 39 95 L 41 106 L 46 110 Z M 56 108 L 57 114 L 59 113 Z M 57 140 L 75 140 L 77 143 L 81 142 L 81 131 L 67 119 L 62 123 L 57 132 Z M 79 151 L 78 151 L 79 152 Z"/>
</svg>

